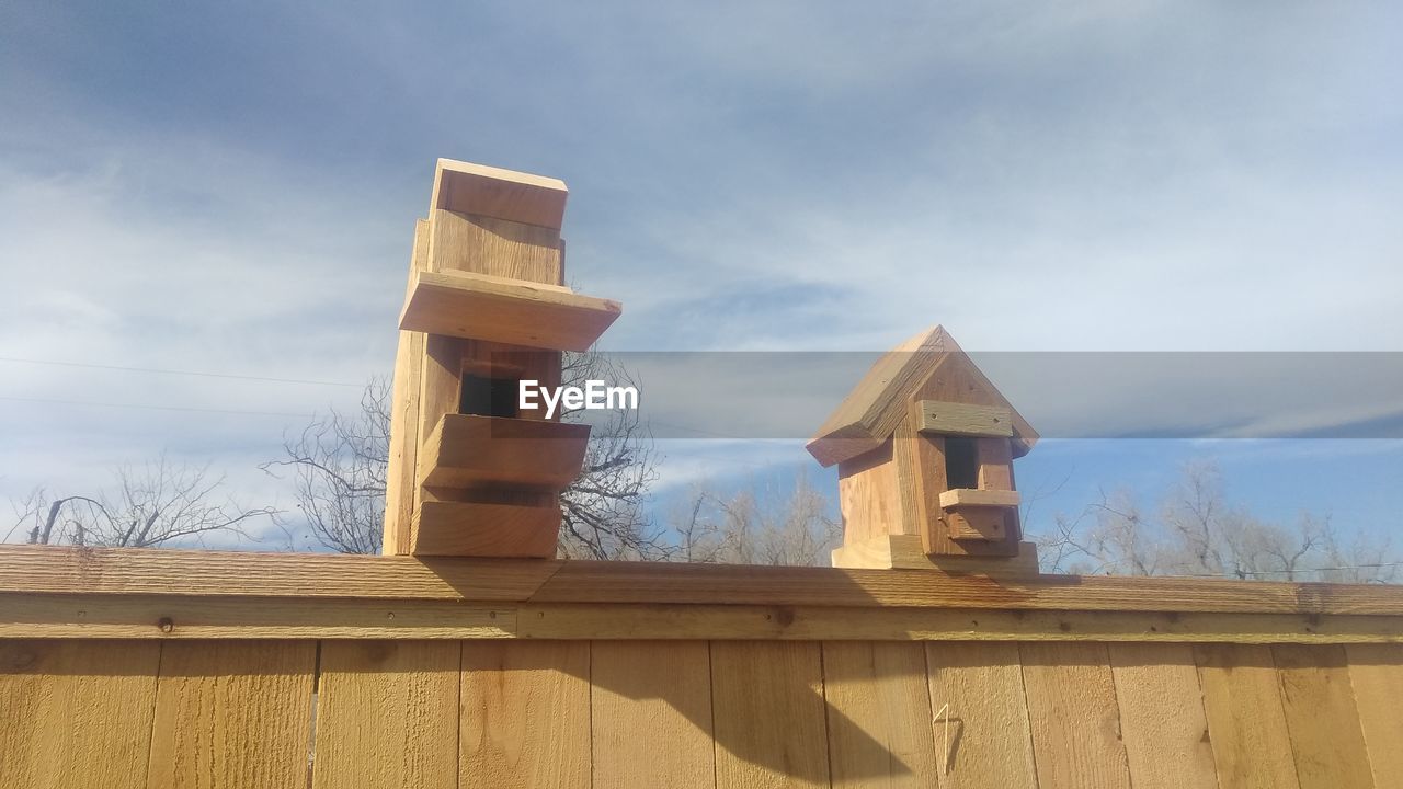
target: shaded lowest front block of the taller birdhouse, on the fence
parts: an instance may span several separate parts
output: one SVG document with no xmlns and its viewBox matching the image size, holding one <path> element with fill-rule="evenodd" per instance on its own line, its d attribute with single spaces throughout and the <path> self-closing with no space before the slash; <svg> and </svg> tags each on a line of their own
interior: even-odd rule
<svg viewBox="0 0 1403 789">
<path fill-rule="evenodd" d="M 558 507 L 424 501 L 414 514 L 410 553 L 554 559 L 558 535 Z"/>
</svg>

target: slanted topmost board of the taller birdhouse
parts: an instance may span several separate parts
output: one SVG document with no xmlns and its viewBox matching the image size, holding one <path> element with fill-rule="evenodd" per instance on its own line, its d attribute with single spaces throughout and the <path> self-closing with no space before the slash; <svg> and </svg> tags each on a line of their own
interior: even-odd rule
<svg viewBox="0 0 1403 789">
<path fill-rule="evenodd" d="M 558 178 L 439 159 L 429 211 L 481 213 L 560 230 L 568 194 Z"/>
</svg>

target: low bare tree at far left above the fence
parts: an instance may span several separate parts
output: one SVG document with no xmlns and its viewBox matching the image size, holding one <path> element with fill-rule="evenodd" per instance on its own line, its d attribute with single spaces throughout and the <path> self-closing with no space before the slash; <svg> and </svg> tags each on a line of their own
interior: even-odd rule
<svg viewBox="0 0 1403 789">
<path fill-rule="evenodd" d="M 223 477 L 208 466 L 171 465 L 161 455 L 145 466 L 122 466 L 111 490 L 51 497 L 35 489 L 15 504 L 17 526 L 34 545 L 153 548 L 174 542 L 203 545 L 227 533 L 250 539 L 244 526 L 274 515 L 231 498 L 216 503 Z"/>
</svg>

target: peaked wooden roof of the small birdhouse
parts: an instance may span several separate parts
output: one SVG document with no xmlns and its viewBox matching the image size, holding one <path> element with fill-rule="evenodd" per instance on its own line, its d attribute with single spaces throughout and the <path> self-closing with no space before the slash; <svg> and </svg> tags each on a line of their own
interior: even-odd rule
<svg viewBox="0 0 1403 789">
<path fill-rule="evenodd" d="M 937 375 L 939 373 L 939 375 Z M 884 354 L 839 403 L 814 438 L 810 455 L 832 466 L 881 446 L 916 399 L 1002 406 L 1013 414 L 1013 455 L 1023 456 L 1038 434 L 974 365 L 943 326 Z"/>
</svg>

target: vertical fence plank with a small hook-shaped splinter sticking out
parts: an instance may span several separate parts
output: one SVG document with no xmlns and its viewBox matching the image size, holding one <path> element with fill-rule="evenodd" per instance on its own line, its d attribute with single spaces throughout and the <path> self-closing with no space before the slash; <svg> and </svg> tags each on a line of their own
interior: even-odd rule
<svg viewBox="0 0 1403 789">
<path fill-rule="evenodd" d="M 1017 644 L 926 644 L 926 665 L 941 789 L 1035 786 Z"/>
</svg>

